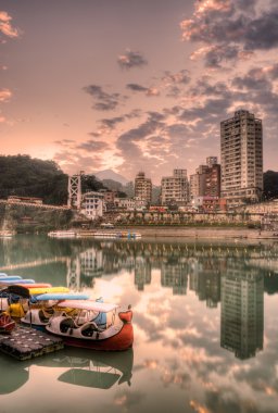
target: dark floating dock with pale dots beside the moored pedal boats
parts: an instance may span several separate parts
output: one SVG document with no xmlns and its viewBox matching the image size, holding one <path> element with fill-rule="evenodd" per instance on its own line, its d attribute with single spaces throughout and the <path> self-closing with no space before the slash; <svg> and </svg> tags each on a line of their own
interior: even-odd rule
<svg viewBox="0 0 278 413">
<path fill-rule="evenodd" d="M 10 335 L 0 334 L 0 351 L 17 360 L 28 360 L 64 348 L 61 338 L 30 327 L 16 326 Z"/>
</svg>

